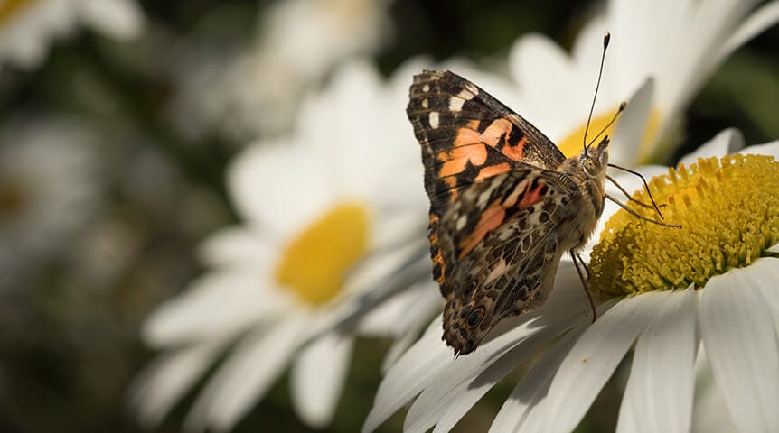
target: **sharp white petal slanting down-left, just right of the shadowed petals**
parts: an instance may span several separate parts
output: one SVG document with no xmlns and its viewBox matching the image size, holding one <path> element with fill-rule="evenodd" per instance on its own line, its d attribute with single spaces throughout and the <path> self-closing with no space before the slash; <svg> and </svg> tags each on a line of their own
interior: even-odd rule
<svg viewBox="0 0 779 433">
<path fill-rule="evenodd" d="M 547 431 L 576 428 L 635 337 L 667 296 L 652 292 L 624 299 L 587 329 L 560 365 L 549 388 Z"/>
</svg>

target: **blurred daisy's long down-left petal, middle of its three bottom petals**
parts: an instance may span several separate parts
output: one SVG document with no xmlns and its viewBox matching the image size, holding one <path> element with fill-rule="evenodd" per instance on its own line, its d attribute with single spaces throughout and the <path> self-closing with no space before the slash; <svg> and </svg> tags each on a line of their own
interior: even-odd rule
<svg viewBox="0 0 779 433">
<path fill-rule="evenodd" d="M 284 371 L 305 326 L 305 318 L 296 315 L 267 333 L 246 336 L 206 384 L 185 427 L 230 430 Z"/>
</svg>

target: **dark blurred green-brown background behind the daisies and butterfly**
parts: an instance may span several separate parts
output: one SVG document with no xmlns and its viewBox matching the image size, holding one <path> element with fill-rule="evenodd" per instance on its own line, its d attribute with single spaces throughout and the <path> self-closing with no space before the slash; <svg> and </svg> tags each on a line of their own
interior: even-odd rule
<svg viewBox="0 0 779 433">
<path fill-rule="evenodd" d="M 236 73 L 235 59 L 247 52 L 269 53 L 267 65 L 277 64 L 274 55 L 283 62 L 295 52 L 291 40 L 305 28 L 271 19 L 283 3 L 143 0 L 135 4 L 143 23 L 130 36 L 80 25 L 56 32 L 40 60 L 3 59 L 0 431 L 149 431 L 127 405 L 130 383 L 155 355 L 141 340 L 143 320 L 204 272 L 195 246 L 237 222 L 225 181 L 232 158 L 258 138 L 286 134 L 296 101 L 326 86 L 338 64 L 367 55 L 390 76 L 425 55 L 470 60 L 500 74 L 521 35 L 540 32 L 570 47 L 598 6 L 328 0 L 320 3 L 358 21 L 361 8 L 380 11 L 370 23 L 381 26 L 375 40 L 314 61 L 315 70 L 297 81 L 276 81 L 273 74 L 252 81 Z M 13 16 L 6 18 L 0 14 L 0 29 L 13 24 Z M 267 117 L 261 109 L 241 111 L 225 102 L 230 92 L 268 92 L 272 106 L 283 109 Z M 692 102 L 678 155 L 729 126 L 746 143 L 776 139 L 777 101 L 779 29 L 772 28 L 732 55 Z M 30 154 L 20 155 L 21 147 Z M 42 198 L 33 194 L 39 189 Z M 388 346 L 358 340 L 335 418 L 324 431 L 361 428 Z M 288 382 L 278 380 L 234 431 L 307 431 L 291 409 Z M 510 385 L 495 387 L 460 431 L 488 426 L 509 392 Z M 580 430 L 614 428 L 620 395 L 606 387 Z M 192 396 L 185 398 L 153 430 L 180 431 L 191 403 Z M 399 414 L 381 430 L 401 426 Z"/>
</svg>

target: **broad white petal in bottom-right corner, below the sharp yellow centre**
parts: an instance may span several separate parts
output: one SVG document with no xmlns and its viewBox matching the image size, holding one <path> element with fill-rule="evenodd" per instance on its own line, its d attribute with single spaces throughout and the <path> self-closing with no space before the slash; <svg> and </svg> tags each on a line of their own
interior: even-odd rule
<svg viewBox="0 0 779 433">
<path fill-rule="evenodd" d="M 700 330 L 714 377 L 740 431 L 779 431 L 779 347 L 752 266 L 712 278 L 700 295 Z M 756 274 L 757 273 L 757 274 Z"/>
</svg>

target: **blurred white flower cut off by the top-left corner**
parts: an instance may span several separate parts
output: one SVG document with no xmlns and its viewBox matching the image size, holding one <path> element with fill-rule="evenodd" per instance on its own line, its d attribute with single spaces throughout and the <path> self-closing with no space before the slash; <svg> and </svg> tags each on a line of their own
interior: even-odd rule
<svg viewBox="0 0 779 433">
<path fill-rule="evenodd" d="M 127 40 L 143 30 L 144 17 L 135 0 L 2 0 L 0 63 L 33 68 L 53 40 L 80 25 Z"/>
</svg>

